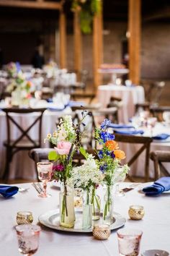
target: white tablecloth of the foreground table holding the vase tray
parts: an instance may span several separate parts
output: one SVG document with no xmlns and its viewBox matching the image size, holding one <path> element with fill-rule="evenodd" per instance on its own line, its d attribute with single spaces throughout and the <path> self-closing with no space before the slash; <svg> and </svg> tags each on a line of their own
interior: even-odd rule
<svg viewBox="0 0 170 256">
<path fill-rule="evenodd" d="M 127 184 L 123 184 L 123 187 Z M 19 210 L 30 210 L 37 223 L 38 216 L 48 210 L 57 208 L 58 189 L 48 189 L 52 197 L 37 197 L 37 192 L 30 184 L 19 184 L 19 187 L 30 187 L 28 192 L 19 192 L 11 199 L 0 197 L 1 232 L 0 248 L 3 256 L 18 256 L 17 236 L 14 226 Z M 50 184 L 48 185 L 50 187 Z M 158 197 L 146 197 L 133 189 L 125 197 L 115 197 L 115 212 L 126 218 L 125 228 L 140 229 L 143 236 L 140 252 L 146 249 L 164 249 L 170 252 L 170 204 L 169 194 Z M 142 221 L 131 221 L 128 217 L 130 205 L 143 205 L 145 216 Z M 35 255 L 40 256 L 117 256 L 117 234 L 112 231 L 108 240 L 99 241 L 91 234 L 73 234 L 53 231 L 42 226 L 40 247 Z"/>
</svg>

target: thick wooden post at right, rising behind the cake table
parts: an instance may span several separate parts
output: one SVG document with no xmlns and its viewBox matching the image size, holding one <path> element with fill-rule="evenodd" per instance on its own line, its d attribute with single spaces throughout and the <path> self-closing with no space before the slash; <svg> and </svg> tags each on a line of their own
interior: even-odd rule
<svg viewBox="0 0 170 256">
<path fill-rule="evenodd" d="M 140 82 L 140 0 L 129 0 L 128 13 L 128 48 L 129 48 L 129 79 L 136 85 Z"/>
</svg>

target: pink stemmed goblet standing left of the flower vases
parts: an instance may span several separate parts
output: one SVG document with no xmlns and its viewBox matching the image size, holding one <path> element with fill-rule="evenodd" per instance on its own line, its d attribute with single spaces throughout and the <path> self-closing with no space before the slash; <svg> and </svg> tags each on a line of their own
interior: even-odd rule
<svg viewBox="0 0 170 256">
<path fill-rule="evenodd" d="M 51 197 L 47 194 L 47 183 L 50 182 L 51 174 L 53 171 L 53 163 L 50 162 L 39 162 L 37 163 L 38 179 L 43 184 L 42 192 L 38 195 L 39 197 Z"/>
</svg>

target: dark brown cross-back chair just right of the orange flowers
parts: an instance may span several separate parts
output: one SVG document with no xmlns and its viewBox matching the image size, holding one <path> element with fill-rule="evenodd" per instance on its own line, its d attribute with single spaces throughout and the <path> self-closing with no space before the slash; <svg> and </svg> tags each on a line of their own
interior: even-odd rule
<svg viewBox="0 0 170 256">
<path fill-rule="evenodd" d="M 125 142 L 130 144 L 140 144 L 142 145 L 139 150 L 135 152 L 132 158 L 128 161 L 128 166 L 131 166 L 138 156 L 143 153 L 144 150 L 146 150 L 146 161 L 145 163 L 141 163 L 145 166 L 145 179 L 146 182 L 148 182 L 149 179 L 149 152 L 150 152 L 150 145 L 153 141 L 151 137 L 140 137 L 140 136 L 132 136 L 132 135 L 118 135 L 115 134 L 115 141 L 117 142 Z M 129 176 L 130 180 L 133 181 L 133 179 Z M 134 181 L 133 181 L 134 182 Z"/>
</svg>

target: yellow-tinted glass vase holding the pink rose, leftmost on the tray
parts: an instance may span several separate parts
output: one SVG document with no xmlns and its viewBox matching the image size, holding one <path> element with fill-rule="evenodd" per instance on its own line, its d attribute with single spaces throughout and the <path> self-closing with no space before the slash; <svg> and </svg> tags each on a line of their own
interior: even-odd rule
<svg viewBox="0 0 170 256">
<path fill-rule="evenodd" d="M 60 192 L 60 225 L 71 229 L 74 221 L 73 189 L 64 185 Z"/>
</svg>

